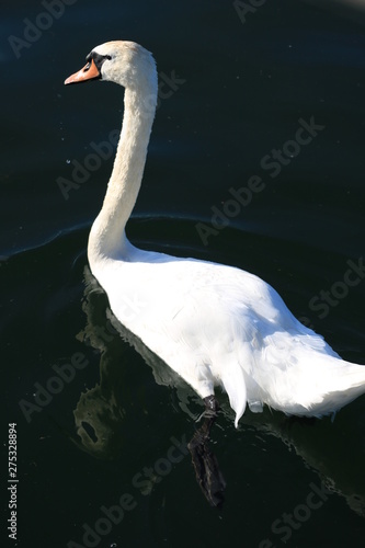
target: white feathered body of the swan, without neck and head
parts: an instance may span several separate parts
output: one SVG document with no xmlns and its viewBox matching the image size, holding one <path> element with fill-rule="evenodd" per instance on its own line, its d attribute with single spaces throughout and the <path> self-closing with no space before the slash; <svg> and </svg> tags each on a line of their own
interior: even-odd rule
<svg viewBox="0 0 365 548">
<path fill-rule="evenodd" d="M 345 404 L 354 385 L 364 391 L 365 367 L 341 361 L 258 276 L 130 247 L 129 260 L 96 277 L 118 320 L 202 398 L 224 387 L 236 424 L 247 403 L 319 416 Z"/>
</svg>

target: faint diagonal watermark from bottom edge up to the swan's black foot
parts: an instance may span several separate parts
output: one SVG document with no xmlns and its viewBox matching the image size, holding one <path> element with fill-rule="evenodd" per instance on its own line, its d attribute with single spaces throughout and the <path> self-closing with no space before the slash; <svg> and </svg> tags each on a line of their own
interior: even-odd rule
<svg viewBox="0 0 365 548">
<path fill-rule="evenodd" d="M 133 489 L 130 489 L 130 492 L 124 492 L 111 506 L 104 504 L 100 506 L 99 517 L 95 522 L 92 525 L 82 524 L 81 540 L 79 543 L 69 540 L 67 548 L 95 548 L 105 536 L 112 533 L 114 527 L 123 522 L 128 512 L 138 506 L 138 500 L 136 494 L 133 494 L 133 490 L 137 490 L 139 496 L 150 494 L 153 484 L 162 481 L 172 471 L 173 467 L 189 454 L 185 435 L 181 439 L 172 436 L 170 443 L 171 445 L 163 457 L 158 458 L 152 466 L 145 466 L 135 473 L 132 479 Z"/>
</svg>

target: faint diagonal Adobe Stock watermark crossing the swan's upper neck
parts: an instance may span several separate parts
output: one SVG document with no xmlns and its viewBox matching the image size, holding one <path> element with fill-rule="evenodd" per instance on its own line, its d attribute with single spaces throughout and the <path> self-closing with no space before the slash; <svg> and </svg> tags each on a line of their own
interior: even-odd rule
<svg viewBox="0 0 365 548">
<path fill-rule="evenodd" d="M 145 101 L 146 112 L 142 115 L 147 115 L 150 112 L 155 112 L 155 109 L 161 106 L 162 101 L 170 99 L 186 80 L 179 78 L 175 70 L 171 70 L 170 76 L 164 72 L 159 72 L 159 84 L 158 84 L 158 96 L 156 105 L 156 96 L 147 98 Z M 155 104 L 153 104 L 155 102 Z M 116 146 L 119 140 L 121 129 L 113 129 L 107 137 L 107 140 L 101 142 L 91 141 L 89 152 L 83 160 L 67 160 L 67 163 L 72 165 L 71 178 L 58 176 L 56 183 L 60 190 L 61 195 L 67 201 L 70 197 L 71 191 L 77 191 L 87 181 L 90 180 L 92 173 L 98 171 L 103 162 L 110 160 L 114 153 Z"/>
</svg>

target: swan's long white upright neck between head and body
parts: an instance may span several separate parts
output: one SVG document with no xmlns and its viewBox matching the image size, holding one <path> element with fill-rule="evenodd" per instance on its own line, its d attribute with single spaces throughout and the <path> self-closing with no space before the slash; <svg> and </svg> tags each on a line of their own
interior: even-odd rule
<svg viewBox="0 0 365 548">
<path fill-rule="evenodd" d="M 123 259 L 128 241 L 125 225 L 132 214 L 144 173 L 147 146 L 156 112 L 157 81 L 145 80 L 138 90 L 125 90 L 121 138 L 103 207 L 89 237 L 88 255 L 93 263 Z"/>
</svg>

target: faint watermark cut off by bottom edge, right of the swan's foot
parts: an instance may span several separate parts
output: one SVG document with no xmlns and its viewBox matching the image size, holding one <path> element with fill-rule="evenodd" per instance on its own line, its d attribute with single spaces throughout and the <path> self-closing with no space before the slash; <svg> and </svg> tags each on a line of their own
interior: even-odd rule
<svg viewBox="0 0 365 548">
<path fill-rule="evenodd" d="M 310 520 L 312 512 L 321 509 L 324 502 L 328 501 L 329 495 L 332 494 L 323 483 L 320 487 L 316 486 L 316 483 L 309 483 L 309 487 L 310 491 L 304 503 L 295 506 L 290 514 L 284 512 L 271 524 L 270 530 L 273 535 L 276 535 L 275 539 L 264 538 L 259 544 L 259 548 L 277 547 L 278 540 L 286 545 L 292 538 L 293 532 L 300 529 Z"/>
</svg>

